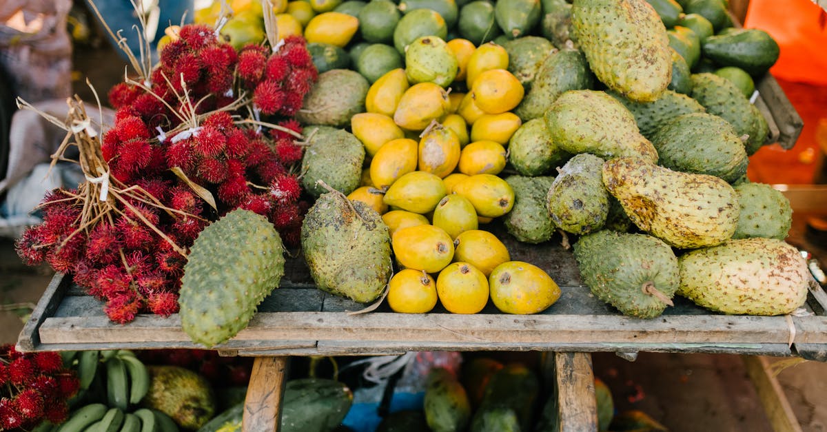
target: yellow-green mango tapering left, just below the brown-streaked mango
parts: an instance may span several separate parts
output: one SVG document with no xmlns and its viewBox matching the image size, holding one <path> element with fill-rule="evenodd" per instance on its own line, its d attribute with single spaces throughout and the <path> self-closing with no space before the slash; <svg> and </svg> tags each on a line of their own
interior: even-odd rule
<svg viewBox="0 0 827 432">
<path fill-rule="evenodd" d="M 418 214 L 426 214 L 445 196 L 445 184 L 437 175 L 414 171 L 402 175 L 385 192 L 385 204 Z"/>
</svg>

